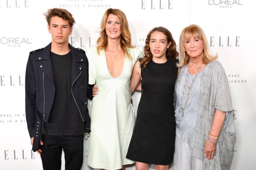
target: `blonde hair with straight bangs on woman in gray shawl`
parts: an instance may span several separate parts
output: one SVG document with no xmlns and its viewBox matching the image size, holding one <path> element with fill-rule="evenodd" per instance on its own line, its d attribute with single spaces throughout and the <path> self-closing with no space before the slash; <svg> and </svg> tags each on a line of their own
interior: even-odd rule
<svg viewBox="0 0 256 170">
<path fill-rule="evenodd" d="M 190 40 L 191 36 L 195 39 L 200 39 L 203 41 L 203 63 L 208 64 L 213 60 L 218 58 L 218 54 L 216 53 L 215 56 L 210 55 L 209 53 L 209 45 L 206 35 L 201 27 L 197 25 L 190 25 L 185 27 L 180 35 L 180 62 L 177 64 L 178 67 L 186 66 L 189 62 L 190 56 L 188 56 L 187 52 L 185 51 L 184 42 Z"/>
</svg>

